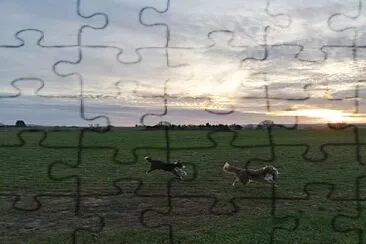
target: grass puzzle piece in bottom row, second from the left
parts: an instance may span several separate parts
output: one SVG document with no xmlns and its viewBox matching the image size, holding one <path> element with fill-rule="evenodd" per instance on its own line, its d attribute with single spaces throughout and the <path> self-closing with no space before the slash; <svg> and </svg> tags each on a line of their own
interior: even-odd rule
<svg viewBox="0 0 366 244">
<path fill-rule="evenodd" d="M 139 170 L 136 170 L 136 172 Z M 125 175 L 127 176 L 127 175 Z M 137 177 L 138 175 L 134 175 Z M 155 184 L 158 182 L 155 181 Z M 143 195 L 139 193 L 137 185 L 145 187 L 148 180 L 123 179 L 116 182 L 120 192 L 115 196 L 89 196 L 83 197 L 81 209 L 90 214 L 101 215 L 105 219 L 103 233 L 98 236 L 98 242 L 116 241 L 133 243 L 138 239 L 140 242 L 153 243 L 159 233 L 148 232 L 140 224 L 140 213 L 146 208 L 159 208 L 164 206 L 167 196 L 155 196 L 153 193 Z M 152 183 L 150 189 L 157 187 Z M 84 238 L 84 241 L 93 242 L 92 238 Z"/>
</svg>

